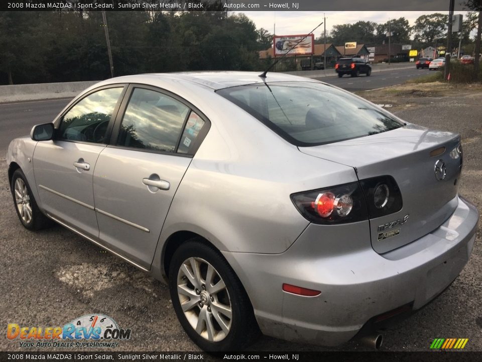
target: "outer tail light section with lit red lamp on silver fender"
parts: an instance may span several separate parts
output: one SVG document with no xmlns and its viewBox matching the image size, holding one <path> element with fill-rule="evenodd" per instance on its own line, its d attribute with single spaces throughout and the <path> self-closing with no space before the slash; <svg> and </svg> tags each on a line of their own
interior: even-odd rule
<svg viewBox="0 0 482 362">
<path fill-rule="evenodd" d="M 368 219 L 359 184 L 351 183 L 291 195 L 298 211 L 315 224 L 344 224 Z"/>
</svg>

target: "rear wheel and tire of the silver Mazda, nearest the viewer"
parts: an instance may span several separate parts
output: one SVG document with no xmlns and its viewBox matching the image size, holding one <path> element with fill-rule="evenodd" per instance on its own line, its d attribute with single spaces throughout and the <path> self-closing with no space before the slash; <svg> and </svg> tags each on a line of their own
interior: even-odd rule
<svg viewBox="0 0 482 362">
<path fill-rule="evenodd" d="M 181 326 L 205 351 L 240 350 L 260 333 L 241 282 L 222 255 L 201 239 L 188 240 L 174 252 L 169 290 Z"/>
</svg>

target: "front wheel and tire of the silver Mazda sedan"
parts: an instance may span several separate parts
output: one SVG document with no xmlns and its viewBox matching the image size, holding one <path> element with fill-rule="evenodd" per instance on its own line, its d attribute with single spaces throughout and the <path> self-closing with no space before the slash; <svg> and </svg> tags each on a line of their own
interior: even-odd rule
<svg viewBox="0 0 482 362">
<path fill-rule="evenodd" d="M 37 206 L 27 178 L 20 168 L 16 169 L 12 175 L 10 190 L 17 215 L 26 229 L 40 230 L 52 225 L 52 221 Z"/>
</svg>

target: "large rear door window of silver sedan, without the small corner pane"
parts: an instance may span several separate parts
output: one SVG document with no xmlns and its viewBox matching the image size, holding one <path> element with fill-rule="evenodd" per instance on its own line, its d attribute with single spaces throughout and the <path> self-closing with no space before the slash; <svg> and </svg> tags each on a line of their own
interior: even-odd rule
<svg viewBox="0 0 482 362">
<path fill-rule="evenodd" d="M 189 108 L 175 99 L 135 88 L 124 114 L 117 145 L 174 152 Z"/>
</svg>

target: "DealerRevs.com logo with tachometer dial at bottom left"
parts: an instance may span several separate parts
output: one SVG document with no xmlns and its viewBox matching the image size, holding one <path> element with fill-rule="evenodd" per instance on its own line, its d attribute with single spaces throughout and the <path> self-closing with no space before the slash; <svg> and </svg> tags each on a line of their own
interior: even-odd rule
<svg viewBox="0 0 482 362">
<path fill-rule="evenodd" d="M 26 348 L 102 348 L 117 347 L 131 338 L 131 329 L 121 329 L 110 317 L 94 314 L 76 318 L 63 327 L 7 326 L 7 338 Z"/>
</svg>

